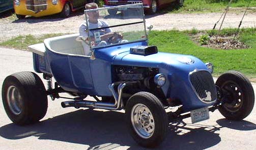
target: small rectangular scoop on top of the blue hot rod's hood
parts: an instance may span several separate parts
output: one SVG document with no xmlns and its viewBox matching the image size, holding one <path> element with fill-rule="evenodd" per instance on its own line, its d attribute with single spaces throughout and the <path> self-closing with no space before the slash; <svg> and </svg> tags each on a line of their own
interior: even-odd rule
<svg viewBox="0 0 256 150">
<path fill-rule="evenodd" d="M 158 53 L 156 46 L 134 46 L 130 48 L 130 54 L 148 56 Z"/>
</svg>

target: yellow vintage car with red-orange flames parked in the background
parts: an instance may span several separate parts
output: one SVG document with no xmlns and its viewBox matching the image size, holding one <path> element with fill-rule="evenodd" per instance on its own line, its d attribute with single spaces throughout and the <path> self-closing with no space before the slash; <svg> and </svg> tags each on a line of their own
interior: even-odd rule
<svg viewBox="0 0 256 150">
<path fill-rule="evenodd" d="M 41 17 L 60 13 L 69 17 L 70 13 L 83 8 L 90 0 L 14 0 L 14 10 L 18 19 L 26 15 Z"/>
</svg>

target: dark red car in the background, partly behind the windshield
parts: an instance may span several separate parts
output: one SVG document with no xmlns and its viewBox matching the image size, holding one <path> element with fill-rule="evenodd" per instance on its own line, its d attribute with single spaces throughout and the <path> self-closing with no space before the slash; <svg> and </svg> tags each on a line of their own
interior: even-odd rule
<svg viewBox="0 0 256 150">
<path fill-rule="evenodd" d="M 183 6 L 183 0 L 104 0 L 104 3 L 104 7 L 143 3 L 144 9 L 150 14 L 156 13 L 160 8 L 170 3 L 177 3 L 179 6 Z M 108 13 L 115 15 L 117 11 L 115 9 L 109 9 Z"/>
</svg>

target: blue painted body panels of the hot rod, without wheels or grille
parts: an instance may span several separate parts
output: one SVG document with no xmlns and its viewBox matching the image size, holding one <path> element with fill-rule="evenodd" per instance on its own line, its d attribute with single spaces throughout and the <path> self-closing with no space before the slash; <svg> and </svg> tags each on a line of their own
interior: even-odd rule
<svg viewBox="0 0 256 150">
<path fill-rule="evenodd" d="M 158 68 L 164 74 L 166 82 L 161 87 L 165 98 L 182 100 L 184 111 L 213 105 L 216 100 L 204 102 L 200 100 L 190 81 L 190 73 L 195 70 L 206 71 L 208 68 L 200 59 L 181 54 L 162 53 L 143 56 L 130 53 L 134 46 L 147 46 L 147 41 L 123 44 L 107 48 L 95 49 L 95 57 L 60 54 L 47 49 L 42 57 L 34 53 L 34 67 L 37 72 L 52 74 L 58 84 L 65 90 L 84 93 L 91 96 L 111 96 L 107 89 L 115 79 L 113 66 L 136 66 Z M 177 60 L 189 58 L 193 62 L 186 64 Z M 64 67 L 65 66 L 65 67 Z M 208 72 L 209 80 L 212 80 Z M 213 80 L 211 81 L 212 84 Z M 215 91 L 216 92 L 216 91 Z M 217 93 L 213 93 L 213 95 Z"/>
</svg>

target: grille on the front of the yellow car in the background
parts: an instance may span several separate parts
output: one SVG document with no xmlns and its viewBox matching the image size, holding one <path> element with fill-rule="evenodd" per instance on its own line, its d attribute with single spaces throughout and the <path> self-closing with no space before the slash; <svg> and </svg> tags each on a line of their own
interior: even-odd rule
<svg viewBox="0 0 256 150">
<path fill-rule="evenodd" d="M 26 9 L 35 13 L 44 11 L 47 9 L 46 0 L 26 0 Z"/>
</svg>

